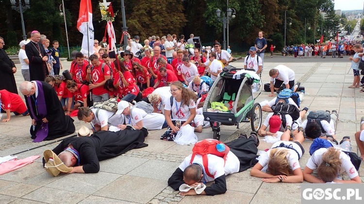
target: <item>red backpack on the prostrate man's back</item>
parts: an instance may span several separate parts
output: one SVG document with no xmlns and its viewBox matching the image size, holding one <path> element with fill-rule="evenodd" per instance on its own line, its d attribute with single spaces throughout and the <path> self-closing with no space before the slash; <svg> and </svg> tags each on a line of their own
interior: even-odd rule
<svg viewBox="0 0 364 204">
<path fill-rule="evenodd" d="M 191 157 L 191 161 L 190 161 L 190 164 L 192 164 L 195 156 L 201 155 L 203 167 L 205 168 L 205 172 L 208 176 L 210 176 L 212 178 L 215 178 L 215 176 L 209 172 L 207 155 L 210 154 L 210 155 L 215 155 L 217 157 L 224 158 L 224 166 L 225 166 L 226 156 L 228 155 L 228 153 L 230 151 L 230 148 L 228 146 L 226 146 L 225 144 L 224 144 L 225 151 L 223 151 L 223 152 L 217 151 L 217 149 L 216 149 L 217 144 L 224 144 L 224 143 L 221 141 L 218 141 L 218 140 L 214 140 L 214 139 L 205 139 L 202 141 L 198 141 L 197 143 L 195 143 L 195 146 L 192 149 L 193 153 L 192 153 L 192 157 Z"/>
</svg>

